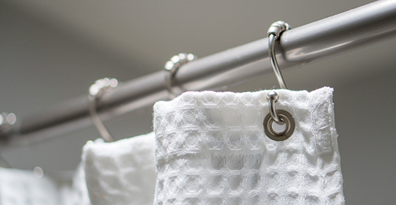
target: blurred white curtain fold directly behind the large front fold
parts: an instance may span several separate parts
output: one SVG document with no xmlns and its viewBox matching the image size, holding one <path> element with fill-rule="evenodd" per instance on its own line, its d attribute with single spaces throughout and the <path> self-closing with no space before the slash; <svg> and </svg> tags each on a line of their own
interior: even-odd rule
<svg viewBox="0 0 396 205">
<path fill-rule="evenodd" d="M 87 143 L 83 163 L 92 204 L 153 204 L 154 146 L 153 133 L 112 143 Z"/>
</svg>

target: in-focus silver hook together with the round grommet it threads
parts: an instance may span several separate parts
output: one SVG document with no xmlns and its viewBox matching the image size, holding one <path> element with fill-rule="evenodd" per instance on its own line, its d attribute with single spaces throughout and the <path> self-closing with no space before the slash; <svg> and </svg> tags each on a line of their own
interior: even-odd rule
<svg viewBox="0 0 396 205">
<path fill-rule="evenodd" d="M 282 89 L 287 88 L 284 78 L 281 74 L 281 70 L 279 69 L 278 61 L 276 60 L 275 41 L 280 37 L 281 33 L 289 29 L 289 24 L 285 23 L 284 21 L 276 21 L 275 23 L 272 23 L 267 31 L 269 59 L 271 60 L 272 69 L 274 69 L 279 87 Z M 275 141 L 284 141 L 285 139 L 288 139 L 291 134 L 293 134 L 294 128 L 296 126 L 293 116 L 291 116 L 291 114 L 285 110 L 276 110 L 275 102 L 279 100 L 279 95 L 275 91 L 270 91 L 267 94 L 267 100 L 269 104 L 269 114 L 264 118 L 264 132 L 270 139 Z M 273 128 L 274 122 L 279 125 L 286 124 L 283 131 L 275 131 Z"/>
</svg>

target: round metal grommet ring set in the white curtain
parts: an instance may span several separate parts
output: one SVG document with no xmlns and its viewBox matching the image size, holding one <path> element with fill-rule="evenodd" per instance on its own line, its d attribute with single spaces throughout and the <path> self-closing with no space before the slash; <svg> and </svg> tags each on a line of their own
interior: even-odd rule
<svg viewBox="0 0 396 205">
<path fill-rule="evenodd" d="M 281 132 L 274 131 L 272 128 L 272 123 L 274 123 L 274 119 L 272 118 L 271 114 L 269 113 L 265 118 L 264 118 L 264 132 L 265 134 L 269 137 L 269 139 L 272 139 L 274 141 L 284 141 L 285 139 L 288 139 L 294 132 L 294 129 L 296 127 L 296 123 L 294 122 L 293 116 L 285 110 L 276 110 L 279 119 L 281 121 L 285 122 L 286 124 L 286 129 Z"/>
</svg>

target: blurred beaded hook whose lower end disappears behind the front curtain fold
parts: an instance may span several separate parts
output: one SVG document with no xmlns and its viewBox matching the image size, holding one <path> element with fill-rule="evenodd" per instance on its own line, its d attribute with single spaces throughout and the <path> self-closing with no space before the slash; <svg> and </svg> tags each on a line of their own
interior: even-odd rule
<svg viewBox="0 0 396 205">
<path fill-rule="evenodd" d="M 168 90 L 170 100 L 176 98 L 175 91 L 173 90 L 173 86 L 175 86 L 175 76 L 177 71 L 181 66 L 187 64 L 190 61 L 197 59 L 197 56 L 194 54 L 186 54 L 180 53 L 172 58 L 165 64 L 165 88 Z"/>
</svg>

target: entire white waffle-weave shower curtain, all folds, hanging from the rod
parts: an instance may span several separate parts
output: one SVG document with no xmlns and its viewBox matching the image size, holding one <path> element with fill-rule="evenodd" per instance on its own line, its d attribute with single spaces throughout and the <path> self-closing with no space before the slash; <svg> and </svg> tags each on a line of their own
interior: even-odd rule
<svg viewBox="0 0 396 205">
<path fill-rule="evenodd" d="M 71 186 L 0 168 L 0 204 L 344 204 L 332 91 L 276 90 L 285 141 L 264 133 L 269 90 L 183 93 L 154 105 L 155 134 L 88 142 Z"/>
</svg>

